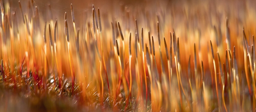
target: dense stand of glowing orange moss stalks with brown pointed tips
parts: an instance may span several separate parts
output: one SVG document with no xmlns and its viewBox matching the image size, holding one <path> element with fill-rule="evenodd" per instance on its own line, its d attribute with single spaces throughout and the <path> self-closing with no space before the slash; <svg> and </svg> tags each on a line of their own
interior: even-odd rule
<svg viewBox="0 0 256 112">
<path fill-rule="evenodd" d="M 18 4 L 13 9 L 0 0 L 0 95 L 66 96 L 84 111 L 256 109 L 256 13 L 250 10 L 254 16 L 245 20 L 232 18 L 235 11 L 210 12 L 204 26 L 189 23 L 200 18 L 192 13 L 200 4 L 182 14 L 176 7 L 160 7 L 157 15 L 125 7 L 115 19 L 92 5 L 80 25 L 75 5 L 54 20 L 50 5 L 45 14 L 33 0 Z"/>
</svg>

